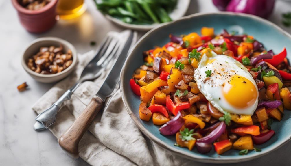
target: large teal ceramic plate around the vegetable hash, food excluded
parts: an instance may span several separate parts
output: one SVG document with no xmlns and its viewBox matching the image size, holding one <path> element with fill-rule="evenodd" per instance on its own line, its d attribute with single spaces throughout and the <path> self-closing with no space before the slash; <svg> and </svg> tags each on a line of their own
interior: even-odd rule
<svg viewBox="0 0 291 166">
<path fill-rule="evenodd" d="M 144 63 L 142 52 L 166 44 L 169 41 L 170 33 L 182 35 L 196 32 L 200 34 L 200 29 L 203 26 L 214 27 L 215 34 L 221 33 L 224 28 L 229 32 L 236 30 L 239 33 L 247 33 L 261 41 L 267 49 L 273 49 L 275 53 L 279 53 L 283 50 L 283 47 L 286 47 L 287 52 L 291 55 L 291 35 L 275 24 L 253 15 L 229 12 L 194 14 L 152 29 L 141 37 L 130 51 L 120 74 L 122 99 L 132 120 L 148 138 L 165 149 L 185 158 L 205 163 L 236 163 L 251 160 L 282 146 L 291 137 L 291 111 L 288 110 L 284 112 L 281 122 L 274 122 L 271 125 L 272 129 L 276 131 L 272 139 L 263 145 L 256 146 L 261 148 L 262 151 L 250 151 L 248 155 L 244 156 L 240 156 L 239 151 L 234 149 L 218 155 L 214 151 L 214 147 L 208 154 L 198 153 L 195 147 L 192 151 L 187 148 L 176 147 L 174 146 L 175 136 L 163 136 L 159 133 L 160 126 L 153 125 L 152 120 L 145 122 L 139 119 L 140 99 L 131 91 L 129 79 L 132 77 L 134 70 Z"/>
</svg>

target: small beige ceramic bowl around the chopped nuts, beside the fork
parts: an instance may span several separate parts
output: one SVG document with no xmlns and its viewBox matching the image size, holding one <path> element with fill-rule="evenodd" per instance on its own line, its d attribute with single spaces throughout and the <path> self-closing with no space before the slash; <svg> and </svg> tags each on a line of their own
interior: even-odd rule
<svg viewBox="0 0 291 166">
<path fill-rule="evenodd" d="M 66 53 L 68 50 L 72 51 L 73 56 L 73 62 L 72 64 L 66 68 L 64 71 L 56 74 L 40 74 L 32 71 L 28 66 L 27 62 L 30 57 L 33 55 L 36 55 L 38 53 L 40 47 L 49 47 L 49 46 L 60 46 L 63 45 L 64 52 Z M 21 64 L 24 70 L 33 77 L 38 82 L 43 83 L 52 83 L 57 82 L 66 76 L 68 76 L 73 69 L 76 67 L 77 64 L 77 51 L 76 48 L 69 43 L 68 41 L 65 41 L 63 39 L 57 38 L 57 37 L 41 37 L 36 40 L 34 40 L 24 51 L 21 59 Z"/>
</svg>

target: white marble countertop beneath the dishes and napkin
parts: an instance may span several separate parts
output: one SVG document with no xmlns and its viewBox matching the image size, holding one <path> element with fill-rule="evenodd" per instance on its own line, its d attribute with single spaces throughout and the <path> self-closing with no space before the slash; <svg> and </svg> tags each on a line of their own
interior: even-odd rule
<svg viewBox="0 0 291 166">
<path fill-rule="evenodd" d="M 52 30 L 35 35 L 28 33 L 20 25 L 11 1 L 0 0 L 0 165 L 88 165 L 80 158 L 72 159 L 67 156 L 48 130 L 33 130 L 36 113 L 31 110 L 31 106 L 53 84 L 36 82 L 20 64 L 25 47 L 38 37 L 63 38 L 71 42 L 79 53 L 85 53 L 97 47 L 90 46 L 90 41 L 98 44 L 107 32 L 123 30 L 107 21 L 96 10 L 92 0 L 87 0 L 86 3 L 88 10 L 81 17 L 58 21 Z M 213 11 L 217 9 L 211 0 L 193 0 L 187 15 Z M 281 13 L 288 11 L 291 11 L 290 2 L 277 1 L 270 20 L 282 26 Z M 283 28 L 291 33 L 291 28 Z M 16 87 L 23 82 L 27 82 L 30 89 L 19 93 Z M 290 149 L 291 142 L 256 162 L 242 164 L 288 165 L 287 163 L 291 163 Z"/>
</svg>

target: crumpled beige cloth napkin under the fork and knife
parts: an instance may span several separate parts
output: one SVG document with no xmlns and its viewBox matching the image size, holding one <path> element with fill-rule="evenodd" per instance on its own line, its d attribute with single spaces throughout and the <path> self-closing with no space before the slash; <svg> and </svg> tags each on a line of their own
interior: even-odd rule
<svg viewBox="0 0 291 166">
<path fill-rule="evenodd" d="M 92 50 L 78 55 L 73 73 L 45 93 L 32 109 L 41 113 L 51 106 L 79 78 L 86 64 L 93 58 Z M 108 71 L 107 71 L 108 72 Z M 49 130 L 60 138 L 81 114 L 102 85 L 106 73 L 98 79 L 81 84 L 70 100 L 58 112 Z M 121 99 L 119 87 L 100 111 L 79 143 L 79 156 L 91 165 L 189 165 L 193 161 L 182 158 L 152 142 L 134 124 Z M 202 165 L 196 163 L 195 165 Z"/>
</svg>

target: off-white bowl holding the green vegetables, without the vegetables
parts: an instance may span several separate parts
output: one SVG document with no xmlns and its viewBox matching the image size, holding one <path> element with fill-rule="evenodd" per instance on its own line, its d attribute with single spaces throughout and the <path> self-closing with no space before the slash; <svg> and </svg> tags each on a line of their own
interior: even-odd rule
<svg viewBox="0 0 291 166">
<path fill-rule="evenodd" d="M 169 14 L 169 16 L 171 17 L 173 21 L 183 17 L 189 8 L 189 5 L 190 5 L 190 0 L 178 0 L 176 8 Z M 110 21 L 112 21 L 113 23 L 118 24 L 119 26 L 122 26 L 123 28 L 141 30 L 141 31 L 148 31 L 148 30 L 151 30 L 152 28 L 155 28 L 156 26 L 166 24 L 166 23 L 151 24 L 151 25 L 128 24 L 110 15 L 105 15 L 105 17 L 109 19 Z"/>
</svg>

